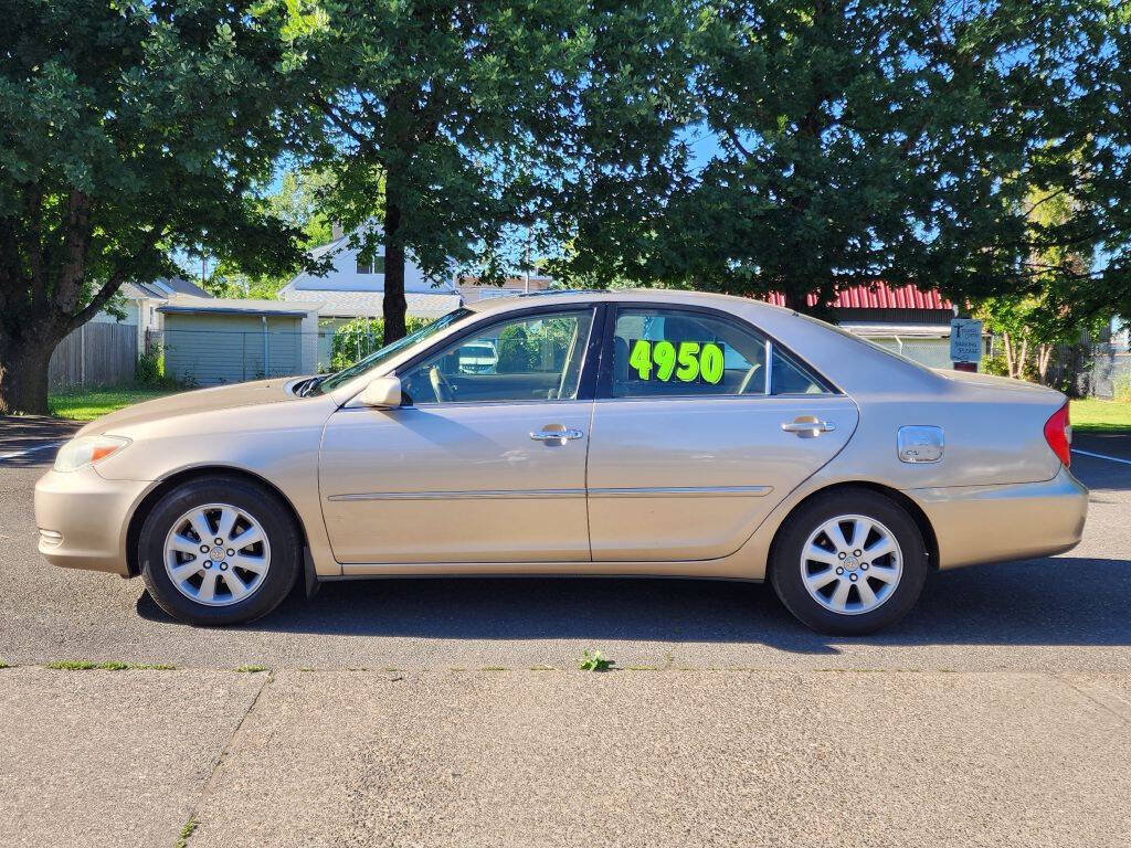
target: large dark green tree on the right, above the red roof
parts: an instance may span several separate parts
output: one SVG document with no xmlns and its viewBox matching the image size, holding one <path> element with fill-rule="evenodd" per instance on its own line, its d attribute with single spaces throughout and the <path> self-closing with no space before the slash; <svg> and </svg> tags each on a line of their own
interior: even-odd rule
<svg viewBox="0 0 1131 848">
<path fill-rule="evenodd" d="M 595 208 L 571 263 L 777 291 L 802 310 L 817 292 L 818 312 L 881 280 L 959 302 L 1029 291 L 1051 248 L 1128 243 L 1128 14 L 1107 0 L 705 2 L 685 135 L 717 152 L 685 158 L 663 204 Z M 1072 193 L 1074 218 L 1030 226 L 1031 185 Z M 1125 282 L 1117 266 L 1105 278 Z"/>
</svg>

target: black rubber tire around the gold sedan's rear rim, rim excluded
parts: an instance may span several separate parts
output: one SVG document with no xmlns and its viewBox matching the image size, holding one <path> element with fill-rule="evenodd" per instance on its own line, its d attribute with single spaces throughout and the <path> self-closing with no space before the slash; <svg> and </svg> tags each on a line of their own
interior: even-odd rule
<svg viewBox="0 0 1131 848">
<path fill-rule="evenodd" d="M 810 535 L 826 521 L 849 514 L 887 527 L 903 555 L 903 572 L 888 598 L 856 614 L 838 613 L 818 603 L 805 588 L 801 564 L 802 547 Z M 770 583 L 786 609 L 813 630 L 834 635 L 863 635 L 903 618 L 918 600 L 926 573 L 926 545 L 915 520 L 895 501 L 866 488 L 843 488 L 806 503 L 782 528 L 770 562 Z"/>
</svg>

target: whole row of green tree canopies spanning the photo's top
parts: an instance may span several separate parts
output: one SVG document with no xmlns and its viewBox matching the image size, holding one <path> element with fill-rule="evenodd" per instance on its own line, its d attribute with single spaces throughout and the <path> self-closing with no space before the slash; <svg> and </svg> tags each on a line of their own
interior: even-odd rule
<svg viewBox="0 0 1131 848">
<path fill-rule="evenodd" d="M 406 256 L 498 279 L 516 241 L 588 285 L 1131 315 L 1122 0 L 9 7 L 0 412 L 124 280 L 207 251 L 271 295 L 331 220 L 383 248 L 389 340 Z"/>
</svg>

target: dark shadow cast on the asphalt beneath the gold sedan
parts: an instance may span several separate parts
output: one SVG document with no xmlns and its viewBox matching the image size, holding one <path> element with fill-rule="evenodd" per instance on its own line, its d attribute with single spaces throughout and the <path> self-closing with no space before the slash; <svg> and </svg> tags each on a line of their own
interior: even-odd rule
<svg viewBox="0 0 1131 848">
<path fill-rule="evenodd" d="M 932 574 L 899 624 L 856 644 L 1131 644 L 1131 561 L 1061 556 Z M 148 597 L 146 618 L 170 618 Z M 769 586 L 684 579 L 432 578 L 326 582 L 296 590 L 264 632 L 416 639 L 586 639 L 768 644 L 839 654 L 798 624 Z"/>
</svg>

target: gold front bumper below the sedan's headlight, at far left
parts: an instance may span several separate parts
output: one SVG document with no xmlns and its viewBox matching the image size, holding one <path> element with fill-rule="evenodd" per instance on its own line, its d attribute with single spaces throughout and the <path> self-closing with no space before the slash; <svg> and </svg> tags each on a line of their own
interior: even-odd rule
<svg viewBox="0 0 1131 848">
<path fill-rule="evenodd" d="M 52 565 L 129 576 L 127 529 L 152 485 L 105 479 L 92 466 L 48 471 L 35 484 L 40 553 Z"/>
</svg>

